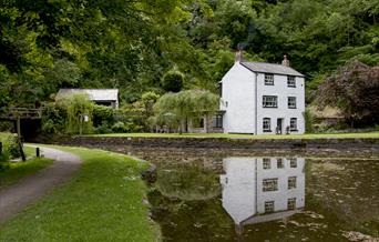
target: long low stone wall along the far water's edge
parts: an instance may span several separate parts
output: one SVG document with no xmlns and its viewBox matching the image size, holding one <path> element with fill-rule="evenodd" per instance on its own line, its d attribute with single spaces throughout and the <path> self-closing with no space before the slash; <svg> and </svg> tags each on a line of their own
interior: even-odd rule
<svg viewBox="0 0 379 242">
<path fill-rule="evenodd" d="M 43 142 L 43 141 L 42 141 Z M 57 138 L 43 143 L 139 148 L 180 148 L 180 149 L 336 149 L 336 150 L 379 150 L 379 139 L 213 139 L 213 138 L 127 138 L 127 137 L 75 137 Z"/>
</svg>

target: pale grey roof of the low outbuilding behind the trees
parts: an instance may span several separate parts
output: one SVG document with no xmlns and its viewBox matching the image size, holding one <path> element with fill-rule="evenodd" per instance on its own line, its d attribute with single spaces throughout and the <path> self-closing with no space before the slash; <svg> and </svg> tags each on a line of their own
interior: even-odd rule
<svg viewBox="0 0 379 242">
<path fill-rule="evenodd" d="M 57 98 L 72 93 L 85 93 L 92 101 L 119 100 L 119 89 L 60 89 Z"/>
</svg>

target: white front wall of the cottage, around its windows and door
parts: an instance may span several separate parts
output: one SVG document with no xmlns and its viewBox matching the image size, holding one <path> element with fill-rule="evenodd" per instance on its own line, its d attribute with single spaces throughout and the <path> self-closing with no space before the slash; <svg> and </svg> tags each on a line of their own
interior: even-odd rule
<svg viewBox="0 0 379 242">
<path fill-rule="evenodd" d="M 275 134 L 277 119 L 281 118 L 283 133 L 286 127 L 289 127 L 290 118 L 297 118 L 297 132 L 291 134 L 301 134 L 305 132 L 305 87 L 304 78 L 296 77 L 296 88 L 287 87 L 287 75 L 274 74 L 274 85 L 265 85 L 265 74 L 257 74 L 257 134 Z M 263 108 L 263 95 L 277 95 L 278 108 Z M 296 97 L 296 109 L 288 109 L 288 97 Z M 272 132 L 263 132 L 263 119 L 272 119 Z"/>
</svg>

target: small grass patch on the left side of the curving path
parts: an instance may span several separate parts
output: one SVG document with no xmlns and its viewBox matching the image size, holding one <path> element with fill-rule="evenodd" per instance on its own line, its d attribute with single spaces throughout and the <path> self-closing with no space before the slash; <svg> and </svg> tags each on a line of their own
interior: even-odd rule
<svg viewBox="0 0 379 242">
<path fill-rule="evenodd" d="M 32 158 L 25 162 L 10 162 L 7 170 L 0 171 L 0 189 L 13 184 L 24 177 L 34 174 L 52 163 L 52 160 L 44 158 Z"/>
</svg>

